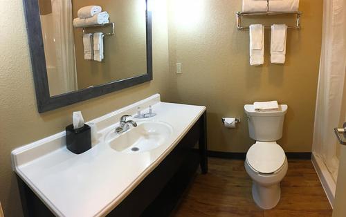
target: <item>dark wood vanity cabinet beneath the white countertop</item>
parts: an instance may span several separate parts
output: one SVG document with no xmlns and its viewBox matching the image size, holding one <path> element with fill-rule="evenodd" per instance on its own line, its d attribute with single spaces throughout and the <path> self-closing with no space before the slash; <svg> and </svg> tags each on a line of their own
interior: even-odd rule
<svg viewBox="0 0 346 217">
<path fill-rule="evenodd" d="M 199 148 L 195 149 L 198 143 Z M 166 158 L 107 216 L 168 216 L 194 177 L 198 166 L 208 172 L 206 112 Z M 54 216 L 17 177 L 24 216 Z"/>
</svg>

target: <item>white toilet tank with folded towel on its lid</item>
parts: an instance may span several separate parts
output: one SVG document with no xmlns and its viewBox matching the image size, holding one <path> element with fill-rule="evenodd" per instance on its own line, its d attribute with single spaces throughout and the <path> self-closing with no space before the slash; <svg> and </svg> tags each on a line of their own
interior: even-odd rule
<svg viewBox="0 0 346 217">
<path fill-rule="evenodd" d="M 279 111 L 255 111 L 253 105 L 245 105 L 248 116 L 248 132 L 256 141 L 276 141 L 282 138 L 282 126 L 287 105 L 279 105 Z"/>
</svg>

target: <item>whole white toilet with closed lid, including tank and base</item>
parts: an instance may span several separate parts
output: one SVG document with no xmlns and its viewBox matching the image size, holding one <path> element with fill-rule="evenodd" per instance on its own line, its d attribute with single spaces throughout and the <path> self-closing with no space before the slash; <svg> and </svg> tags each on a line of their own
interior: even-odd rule
<svg viewBox="0 0 346 217">
<path fill-rule="evenodd" d="M 257 112 L 245 105 L 248 131 L 255 144 L 246 153 L 245 169 L 253 180 L 253 200 L 262 209 L 272 209 L 280 200 L 280 182 L 287 172 L 287 158 L 276 140 L 282 138 L 287 105 L 279 111 Z"/>
</svg>

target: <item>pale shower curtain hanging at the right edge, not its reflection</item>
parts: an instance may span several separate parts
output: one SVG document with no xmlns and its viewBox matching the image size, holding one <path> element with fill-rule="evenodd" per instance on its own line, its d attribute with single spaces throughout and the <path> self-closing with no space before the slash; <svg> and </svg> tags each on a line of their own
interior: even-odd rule
<svg viewBox="0 0 346 217">
<path fill-rule="evenodd" d="M 325 0 L 323 3 L 322 50 L 313 132 L 313 153 L 322 158 L 334 182 L 339 162 L 333 129 L 339 124 L 345 85 L 345 2 Z"/>
</svg>

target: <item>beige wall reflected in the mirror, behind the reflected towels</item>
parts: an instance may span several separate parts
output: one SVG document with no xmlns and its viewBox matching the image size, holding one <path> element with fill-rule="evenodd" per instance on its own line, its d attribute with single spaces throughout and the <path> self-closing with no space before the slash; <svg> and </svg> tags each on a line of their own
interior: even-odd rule
<svg viewBox="0 0 346 217">
<path fill-rule="evenodd" d="M 78 89 L 106 84 L 147 72 L 144 0 L 73 0 L 73 17 L 79 8 L 98 5 L 116 25 L 115 35 L 104 37 L 104 60 L 84 59 L 82 30 L 74 30 Z M 110 27 L 88 28 L 86 32 L 111 32 Z"/>
</svg>

